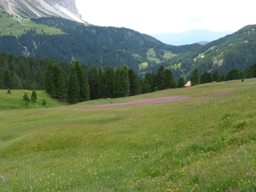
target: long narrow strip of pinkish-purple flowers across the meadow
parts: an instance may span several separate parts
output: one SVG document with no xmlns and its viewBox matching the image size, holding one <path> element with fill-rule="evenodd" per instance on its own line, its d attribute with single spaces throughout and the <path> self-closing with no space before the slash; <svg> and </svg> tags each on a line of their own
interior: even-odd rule
<svg viewBox="0 0 256 192">
<path fill-rule="evenodd" d="M 102 105 L 93 105 L 90 108 L 110 108 L 110 107 L 122 107 L 129 105 L 144 105 L 144 104 L 154 104 L 154 103 L 162 103 L 162 102 L 176 102 L 184 99 L 188 99 L 186 96 L 168 96 L 168 97 L 160 97 L 155 99 L 147 99 L 136 102 L 119 102 L 119 103 L 109 103 Z"/>
</svg>

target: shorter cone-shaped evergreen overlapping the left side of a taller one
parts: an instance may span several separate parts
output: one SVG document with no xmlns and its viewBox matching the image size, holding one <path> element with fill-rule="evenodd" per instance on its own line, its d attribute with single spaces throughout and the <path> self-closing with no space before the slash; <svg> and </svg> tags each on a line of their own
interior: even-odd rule
<svg viewBox="0 0 256 192">
<path fill-rule="evenodd" d="M 67 102 L 70 104 L 78 103 L 80 99 L 79 79 L 75 67 L 72 67 L 68 85 L 67 85 Z"/>
</svg>

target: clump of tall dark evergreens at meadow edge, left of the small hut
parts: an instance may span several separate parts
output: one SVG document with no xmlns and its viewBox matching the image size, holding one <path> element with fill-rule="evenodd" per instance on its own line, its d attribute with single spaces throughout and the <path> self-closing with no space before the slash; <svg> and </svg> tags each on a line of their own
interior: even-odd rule
<svg viewBox="0 0 256 192">
<path fill-rule="evenodd" d="M 71 72 L 65 73 L 54 61 L 45 71 L 44 87 L 47 93 L 59 101 L 71 104 L 100 98 L 136 96 L 156 90 L 183 87 L 177 84 L 172 71 L 160 66 L 157 73 L 147 73 L 140 79 L 137 73 L 124 65 L 116 67 L 84 67 L 74 61 Z"/>
</svg>

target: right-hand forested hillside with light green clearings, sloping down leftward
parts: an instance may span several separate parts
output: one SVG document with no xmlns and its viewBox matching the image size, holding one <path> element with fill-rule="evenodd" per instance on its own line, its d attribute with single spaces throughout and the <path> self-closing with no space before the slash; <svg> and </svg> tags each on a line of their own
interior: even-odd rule
<svg viewBox="0 0 256 192">
<path fill-rule="evenodd" d="M 245 26 L 238 32 L 164 61 L 162 65 L 176 68 L 177 74 L 185 79 L 195 68 L 200 73 L 218 71 L 220 74 L 226 74 L 233 68 L 244 70 L 256 61 L 254 29 L 256 25 Z"/>
</svg>

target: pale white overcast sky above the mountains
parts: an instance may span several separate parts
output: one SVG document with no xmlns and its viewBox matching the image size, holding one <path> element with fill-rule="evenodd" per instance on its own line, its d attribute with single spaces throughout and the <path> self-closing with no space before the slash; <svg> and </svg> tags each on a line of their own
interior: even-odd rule
<svg viewBox="0 0 256 192">
<path fill-rule="evenodd" d="M 256 24 L 253 0 L 76 0 L 83 19 L 153 35 L 205 29 L 236 32 Z"/>
</svg>

